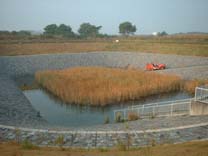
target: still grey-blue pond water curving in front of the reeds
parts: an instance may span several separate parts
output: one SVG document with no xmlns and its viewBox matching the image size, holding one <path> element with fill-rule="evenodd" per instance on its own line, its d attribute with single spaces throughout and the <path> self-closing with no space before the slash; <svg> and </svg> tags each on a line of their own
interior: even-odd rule
<svg viewBox="0 0 208 156">
<path fill-rule="evenodd" d="M 110 123 L 113 121 L 113 110 L 125 108 L 131 105 L 179 100 L 190 98 L 186 93 L 173 93 L 166 95 L 151 96 L 140 101 L 116 104 L 106 107 L 90 107 L 66 104 L 58 98 L 41 89 L 24 91 L 33 107 L 40 112 L 50 124 L 56 126 L 83 127 L 103 124 L 106 117 Z"/>
</svg>

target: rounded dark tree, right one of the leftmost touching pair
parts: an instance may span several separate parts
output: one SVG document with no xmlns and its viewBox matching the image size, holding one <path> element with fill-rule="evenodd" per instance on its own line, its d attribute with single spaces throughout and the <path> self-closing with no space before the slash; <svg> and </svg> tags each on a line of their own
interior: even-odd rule
<svg viewBox="0 0 208 156">
<path fill-rule="evenodd" d="M 75 36 L 72 31 L 72 28 L 70 26 L 65 25 L 65 24 L 59 25 L 59 27 L 56 30 L 56 34 L 61 35 L 62 37 L 66 37 L 66 38 L 72 38 Z"/>
</svg>

